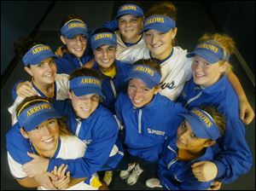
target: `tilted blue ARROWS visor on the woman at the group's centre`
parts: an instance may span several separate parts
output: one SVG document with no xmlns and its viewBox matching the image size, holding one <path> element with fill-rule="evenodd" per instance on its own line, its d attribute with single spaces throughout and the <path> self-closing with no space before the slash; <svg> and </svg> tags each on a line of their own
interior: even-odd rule
<svg viewBox="0 0 256 191">
<path fill-rule="evenodd" d="M 148 67 L 145 65 L 134 65 L 131 68 L 131 72 L 129 77 L 125 79 L 129 80 L 131 78 L 139 78 L 143 80 L 145 84 L 147 84 L 149 89 L 154 88 L 154 86 L 160 84 L 160 74 L 156 72 L 152 67 Z"/>
</svg>

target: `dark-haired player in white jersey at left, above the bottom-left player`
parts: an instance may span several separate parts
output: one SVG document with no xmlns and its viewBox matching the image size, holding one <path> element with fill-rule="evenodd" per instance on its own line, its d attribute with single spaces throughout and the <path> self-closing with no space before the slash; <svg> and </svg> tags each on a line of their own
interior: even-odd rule
<svg viewBox="0 0 256 191">
<path fill-rule="evenodd" d="M 68 75 L 56 74 L 56 56 L 47 44 L 22 38 L 15 43 L 15 52 L 22 58 L 25 71 L 32 77 L 32 94 L 22 93 L 15 98 L 15 103 L 9 107 L 12 124 L 16 122 L 15 109 L 26 96 L 38 95 L 53 100 L 65 100 L 68 97 Z"/>
</svg>

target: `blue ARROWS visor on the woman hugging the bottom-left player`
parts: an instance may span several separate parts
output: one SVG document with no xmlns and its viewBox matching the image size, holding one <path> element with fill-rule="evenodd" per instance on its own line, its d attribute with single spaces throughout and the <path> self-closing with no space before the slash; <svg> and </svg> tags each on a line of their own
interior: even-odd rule
<svg viewBox="0 0 256 191">
<path fill-rule="evenodd" d="M 102 82 L 99 78 L 90 76 L 73 78 L 70 80 L 70 90 L 73 90 L 75 96 L 85 96 L 88 94 L 100 95 L 105 97 L 102 93 Z"/>
</svg>

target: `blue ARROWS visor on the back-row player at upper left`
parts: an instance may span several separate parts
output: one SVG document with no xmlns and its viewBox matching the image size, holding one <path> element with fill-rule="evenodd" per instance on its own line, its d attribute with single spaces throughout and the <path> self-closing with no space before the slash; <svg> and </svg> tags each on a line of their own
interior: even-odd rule
<svg viewBox="0 0 256 191">
<path fill-rule="evenodd" d="M 82 34 L 88 38 L 88 28 L 83 20 L 68 20 L 67 23 L 61 27 L 61 35 L 68 39 L 78 34 Z"/>
</svg>

